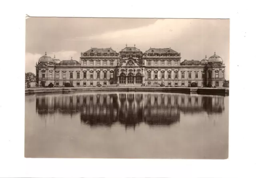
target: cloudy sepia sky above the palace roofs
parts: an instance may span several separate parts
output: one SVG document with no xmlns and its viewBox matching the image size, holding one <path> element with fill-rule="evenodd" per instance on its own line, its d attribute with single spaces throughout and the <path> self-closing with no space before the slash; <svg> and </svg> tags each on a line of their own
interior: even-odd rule
<svg viewBox="0 0 256 178">
<path fill-rule="evenodd" d="M 26 72 L 36 71 L 38 59 L 47 55 L 79 61 L 91 47 L 112 47 L 116 52 L 134 44 L 140 51 L 171 48 L 181 61 L 201 61 L 219 55 L 229 79 L 230 20 L 141 18 L 39 18 L 26 19 Z"/>
</svg>

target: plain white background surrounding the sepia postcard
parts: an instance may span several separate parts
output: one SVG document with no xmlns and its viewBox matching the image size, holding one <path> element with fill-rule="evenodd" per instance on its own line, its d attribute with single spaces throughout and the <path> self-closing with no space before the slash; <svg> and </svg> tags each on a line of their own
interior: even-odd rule
<svg viewBox="0 0 256 178">
<path fill-rule="evenodd" d="M 253 1 L 1 1 L 0 177 L 256 177 Z M 25 15 L 230 18 L 227 160 L 24 158 Z M 90 24 L 88 24 L 90 25 Z"/>
</svg>

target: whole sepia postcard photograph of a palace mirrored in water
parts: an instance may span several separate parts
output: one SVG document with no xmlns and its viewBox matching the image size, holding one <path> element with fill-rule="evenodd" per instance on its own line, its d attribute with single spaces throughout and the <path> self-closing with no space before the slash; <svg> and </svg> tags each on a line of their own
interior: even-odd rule
<svg viewBox="0 0 256 178">
<path fill-rule="evenodd" d="M 26 18 L 26 158 L 227 159 L 230 20 Z"/>
</svg>

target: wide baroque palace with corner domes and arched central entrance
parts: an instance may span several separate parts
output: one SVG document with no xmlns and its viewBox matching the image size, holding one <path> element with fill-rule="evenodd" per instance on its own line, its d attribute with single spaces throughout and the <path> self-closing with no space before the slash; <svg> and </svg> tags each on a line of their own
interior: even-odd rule
<svg viewBox="0 0 256 178">
<path fill-rule="evenodd" d="M 184 60 L 180 53 L 170 48 L 151 48 L 145 53 L 134 47 L 126 47 L 119 53 L 110 48 L 91 48 L 82 52 L 79 62 L 60 60 L 46 53 L 36 63 L 38 86 L 188 86 L 196 82 L 198 87 L 211 84 L 222 87 L 225 65 L 214 53 L 209 59 Z"/>
</svg>

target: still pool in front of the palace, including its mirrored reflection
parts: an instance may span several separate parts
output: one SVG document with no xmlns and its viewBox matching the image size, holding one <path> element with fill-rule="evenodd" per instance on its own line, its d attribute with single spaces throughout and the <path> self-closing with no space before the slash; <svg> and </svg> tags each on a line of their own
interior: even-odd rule
<svg viewBox="0 0 256 178">
<path fill-rule="evenodd" d="M 25 96 L 25 157 L 228 158 L 228 96 Z"/>
</svg>

